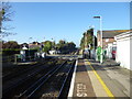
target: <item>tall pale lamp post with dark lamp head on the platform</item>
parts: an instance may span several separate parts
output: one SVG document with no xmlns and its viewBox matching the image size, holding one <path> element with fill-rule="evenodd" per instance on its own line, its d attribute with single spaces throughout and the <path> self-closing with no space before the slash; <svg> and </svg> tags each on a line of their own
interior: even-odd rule
<svg viewBox="0 0 132 99">
<path fill-rule="evenodd" d="M 100 63 L 102 63 L 102 16 L 94 16 L 94 19 L 100 19 L 100 44 L 101 44 L 101 56 L 100 56 Z"/>
</svg>

